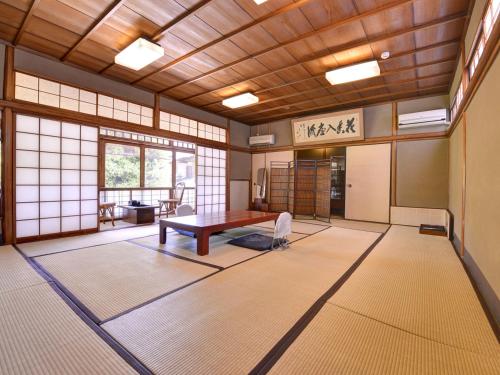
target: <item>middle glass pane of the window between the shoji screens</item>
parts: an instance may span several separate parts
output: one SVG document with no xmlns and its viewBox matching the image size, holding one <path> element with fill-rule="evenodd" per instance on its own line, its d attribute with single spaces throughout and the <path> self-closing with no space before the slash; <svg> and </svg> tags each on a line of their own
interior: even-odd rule
<svg viewBox="0 0 500 375">
<path fill-rule="evenodd" d="M 145 187 L 172 187 L 172 151 L 146 148 Z"/>
</svg>

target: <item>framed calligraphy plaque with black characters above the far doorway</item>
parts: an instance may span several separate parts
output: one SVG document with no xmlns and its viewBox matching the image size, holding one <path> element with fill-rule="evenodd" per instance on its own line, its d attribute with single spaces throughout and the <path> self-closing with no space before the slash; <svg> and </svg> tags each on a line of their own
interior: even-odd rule
<svg viewBox="0 0 500 375">
<path fill-rule="evenodd" d="M 292 134 L 294 146 L 364 139 L 363 109 L 294 119 Z"/>
</svg>

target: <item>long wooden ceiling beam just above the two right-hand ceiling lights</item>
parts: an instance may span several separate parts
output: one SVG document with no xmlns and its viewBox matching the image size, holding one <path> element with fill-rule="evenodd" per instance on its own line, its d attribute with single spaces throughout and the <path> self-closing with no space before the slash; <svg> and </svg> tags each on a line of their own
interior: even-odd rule
<svg viewBox="0 0 500 375">
<path fill-rule="evenodd" d="M 326 52 L 323 52 L 323 53 L 321 53 L 321 54 L 319 54 L 319 55 L 317 55 L 317 56 L 315 56 L 315 57 L 313 57 L 311 59 L 304 59 L 304 60 L 301 60 L 301 61 L 299 61 L 297 63 L 284 66 L 282 68 L 273 70 L 271 72 L 267 72 L 267 73 L 264 73 L 264 74 L 259 74 L 259 75 L 253 76 L 253 77 L 245 78 L 242 81 L 234 82 L 234 83 L 232 83 L 230 85 L 225 85 L 225 86 L 219 87 L 219 88 L 214 89 L 214 90 L 205 91 L 205 92 L 202 92 L 202 93 L 199 93 L 199 94 L 196 94 L 196 95 L 184 98 L 184 99 L 182 99 L 182 101 L 190 100 L 190 99 L 193 99 L 193 98 L 196 98 L 196 97 L 199 97 L 199 96 L 202 96 L 202 95 L 206 95 L 206 94 L 215 93 L 215 92 L 223 90 L 225 88 L 228 88 L 228 87 L 231 87 L 231 86 L 236 86 L 236 85 L 241 85 L 241 84 L 243 84 L 245 82 L 248 82 L 248 81 L 251 81 L 251 80 L 254 80 L 254 79 L 265 78 L 265 77 L 267 77 L 269 75 L 276 74 L 276 73 L 279 73 L 279 72 L 283 72 L 283 71 L 285 71 L 287 69 L 290 69 L 290 68 L 299 67 L 302 64 L 314 62 L 316 60 L 319 60 L 319 59 L 322 59 L 322 58 L 325 58 L 327 56 L 331 56 L 331 55 L 334 55 L 334 54 L 337 54 L 337 53 L 347 52 L 347 51 L 349 51 L 351 49 L 354 49 L 354 48 L 358 48 L 358 47 L 366 46 L 366 45 L 369 45 L 369 44 L 372 44 L 372 43 L 377 43 L 377 42 L 389 40 L 389 39 L 392 39 L 392 38 L 395 38 L 395 37 L 399 37 L 399 36 L 403 36 L 403 35 L 406 35 L 406 34 L 412 34 L 414 32 L 420 31 L 420 30 L 425 30 L 425 29 L 429 29 L 429 28 L 432 28 L 432 27 L 436 27 L 436 26 L 440 26 L 440 25 L 445 25 L 447 23 L 463 19 L 464 17 L 466 17 L 466 15 L 467 15 L 466 12 L 460 12 L 460 13 L 456 13 L 456 14 L 453 14 L 453 15 L 450 15 L 450 16 L 447 16 L 447 17 L 443 17 L 443 18 L 434 20 L 434 21 L 426 22 L 426 23 L 423 23 L 423 24 L 418 25 L 418 26 L 412 26 L 410 28 L 405 28 L 403 30 L 399 30 L 399 31 L 395 31 L 395 32 L 387 33 L 387 34 L 382 34 L 382 35 L 379 35 L 379 36 L 374 37 L 374 38 L 370 38 L 370 39 L 366 38 L 366 39 L 362 39 L 362 40 L 359 40 L 359 41 L 356 41 L 356 42 L 346 43 L 346 44 L 343 44 L 341 46 L 338 46 L 337 48 L 331 48 L 331 49 L 327 50 Z"/>
</svg>

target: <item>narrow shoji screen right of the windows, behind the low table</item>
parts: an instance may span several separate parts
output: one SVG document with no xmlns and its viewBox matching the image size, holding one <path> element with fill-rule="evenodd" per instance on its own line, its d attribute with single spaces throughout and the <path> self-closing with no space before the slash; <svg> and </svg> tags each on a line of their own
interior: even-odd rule
<svg viewBox="0 0 500 375">
<path fill-rule="evenodd" d="M 226 210 L 226 151 L 197 147 L 196 212 Z"/>
</svg>

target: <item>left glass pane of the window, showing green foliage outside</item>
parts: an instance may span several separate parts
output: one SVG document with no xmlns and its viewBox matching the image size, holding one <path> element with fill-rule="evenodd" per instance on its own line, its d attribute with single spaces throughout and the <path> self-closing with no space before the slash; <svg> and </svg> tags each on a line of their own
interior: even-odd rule
<svg viewBox="0 0 500 375">
<path fill-rule="evenodd" d="M 141 176 L 140 149 L 136 146 L 106 143 L 106 187 L 139 187 Z"/>
</svg>

